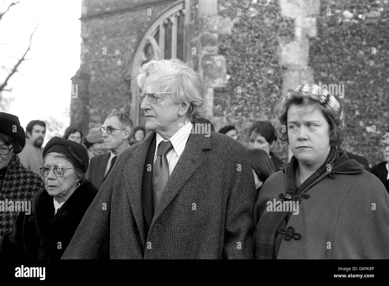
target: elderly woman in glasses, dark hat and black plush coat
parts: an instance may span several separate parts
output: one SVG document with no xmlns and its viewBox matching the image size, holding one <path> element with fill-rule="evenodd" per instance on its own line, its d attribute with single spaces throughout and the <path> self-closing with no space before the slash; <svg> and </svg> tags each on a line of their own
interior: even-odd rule
<svg viewBox="0 0 389 286">
<path fill-rule="evenodd" d="M 20 212 L 14 232 L 0 245 L 0 258 L 60 259 L 98 189 L 85 179 L 88 153 L 81 144 L 53 137 L 43 149 L 46 189 Z"/>
</svg>

